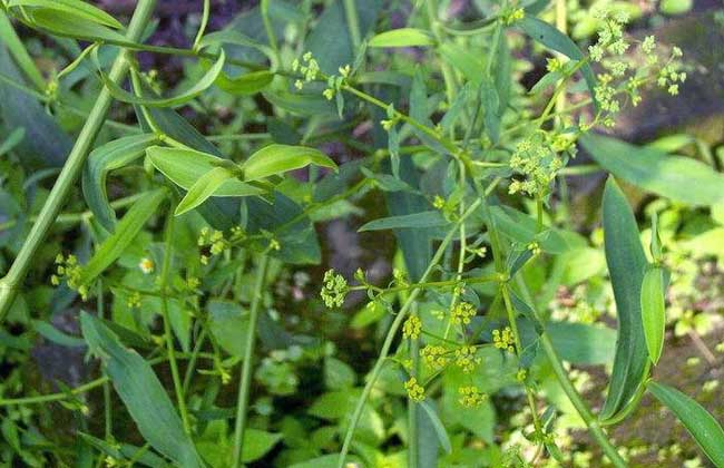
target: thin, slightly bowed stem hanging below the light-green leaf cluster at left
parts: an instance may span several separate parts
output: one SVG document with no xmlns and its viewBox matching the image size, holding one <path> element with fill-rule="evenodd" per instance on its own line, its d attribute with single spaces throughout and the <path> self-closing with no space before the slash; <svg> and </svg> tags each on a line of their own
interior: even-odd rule
<svg viewBox="0 0 724 468">
<path fill-rule="evenodd" d="M 188 419 L 188 410 L 186 409 L 186 399 L 184 398 L 184 388 L 178 372 L 178 363 L 176 362 L 174 333 L 170 328 L 170 315 L 168 313 L 168 280 L 174 254 L 174 220 L 176 218 L 174 211 L 175 204 L 172 203 L 166 221 L 166 234 L 164 235 L 164 263 L 160 270 L 160 311 L 164 318 L 164 337 L 166 338 L 166 350 L 168 353 L 168 363 L 170 364 L 172 379 L 174 380 L 176 401 L 178 402 L 178 412 L 184 423 L 184 431 L 190 435 L 192 428 Z"/>
</svg>

